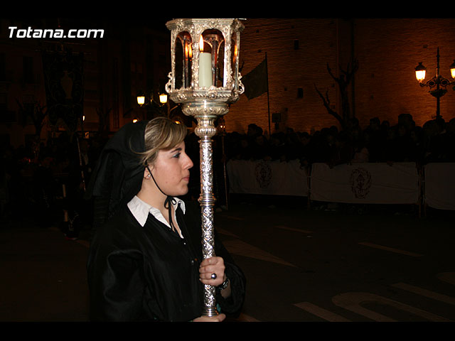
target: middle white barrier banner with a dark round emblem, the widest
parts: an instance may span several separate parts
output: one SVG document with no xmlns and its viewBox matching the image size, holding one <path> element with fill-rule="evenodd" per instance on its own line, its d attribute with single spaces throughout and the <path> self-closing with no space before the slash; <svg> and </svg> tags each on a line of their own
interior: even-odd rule
<svg viewBox="0 0 455 341">
<path fill-rule="evenodd" d="M 311 168 L 311 200 L 326 202 L 414 204 L 419 202 L 415 163 L 353 163 Z"/>
</svg>

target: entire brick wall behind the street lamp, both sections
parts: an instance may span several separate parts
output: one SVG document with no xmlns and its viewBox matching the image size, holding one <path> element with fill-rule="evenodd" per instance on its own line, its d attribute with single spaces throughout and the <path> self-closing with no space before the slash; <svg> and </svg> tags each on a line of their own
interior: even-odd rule
<svg viewBox="0 0 455 341">
<path fill-rule="evenodd" d="M 279 129 L 314 131 L 338 125 L 323 107 L 314 85 L 328 90 L 334 110 L 339 111 L 335 82 L 326 65 L 338 75 L 337 65 L 346 68 L 353 53 L 359 62 L 351 106 L 362 126 L 371 117 L 397 122 L 399 114 L 412 114 L 422 126 L 436 114 L 436 99 L 419 87 L 414 67 L 427 67 L 427 79 L 436 74 L 437 47 L 440 73 L 450 78 L 455 58 L 455 19 L 341 19 L 253 18 L 245 22 L 240 40 L 242 75 L 247 75 L 267 53 L 269 112 L 282 114 Z M 350 41 L 353 38 L 354 44 Z M 294 44 L 298 41 L 298 48 Z M 298 89 L 303 98 L 298 98 Z M 441 98 L 441 115 L 455 117 L 455 93 L 449 87 Z M 225 117 L 228 131 L 246 131 L 250 123 L 269 131 L 267 94 L 248 100 L 242 96 Z M 275 126 L 271 124 L 271 131 Z"/>
</svg>

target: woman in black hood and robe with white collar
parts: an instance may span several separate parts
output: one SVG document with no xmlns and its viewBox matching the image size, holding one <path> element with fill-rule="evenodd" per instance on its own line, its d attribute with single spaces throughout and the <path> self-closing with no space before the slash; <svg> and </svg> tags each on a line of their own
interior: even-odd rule
<svg viewBox="0 0 455 341">
<path fill-rule="evenodd" d="M 159 117 L 122 127 L 102 152 L 89 190 L 110 218 L 87 261 L 92 320 L 221 321 L 240 311 L 245 276 L 216 234 L 216 256 L 202 259 L 200 209 L 177 198 L 193 166 L 185 136 Z M 216 287 L 215 317 L 201 316 L 204 284 Z"/>
</svg>

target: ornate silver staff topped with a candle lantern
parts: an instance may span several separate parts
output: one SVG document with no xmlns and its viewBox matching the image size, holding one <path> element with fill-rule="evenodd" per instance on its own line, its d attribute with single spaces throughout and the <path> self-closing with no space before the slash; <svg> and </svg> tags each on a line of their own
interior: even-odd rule
<svg viewBox="0 0 455 341">
<path fill-rule="evenodd" d="M 171 31 L 171 72 L 166 92 L 182 111 L 198 121 L 200 137 L 200 207 L 204 259 L 213 249 L 213 162 L 212 137 L 215 120 L 229 111 L 244 88 L 239 73 L 240 32 L 238 19 L 186 18 L 166 23 Z M 205 285 L 203 314 L 218 315 L 215 288 Z"/>
</svg>

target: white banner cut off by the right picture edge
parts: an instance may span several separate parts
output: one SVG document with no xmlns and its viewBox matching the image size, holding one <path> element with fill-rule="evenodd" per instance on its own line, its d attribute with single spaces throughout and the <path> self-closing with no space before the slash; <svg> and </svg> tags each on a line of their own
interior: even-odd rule
<svg viewBox="0 0 455 341">
<path fill-rule="evenodd" d="M 425 203 L 441 210 L 455 210 L 455 163 L 428 163 L 424 178 Z"/>
</svg>

